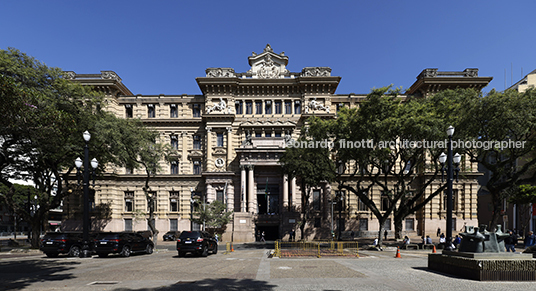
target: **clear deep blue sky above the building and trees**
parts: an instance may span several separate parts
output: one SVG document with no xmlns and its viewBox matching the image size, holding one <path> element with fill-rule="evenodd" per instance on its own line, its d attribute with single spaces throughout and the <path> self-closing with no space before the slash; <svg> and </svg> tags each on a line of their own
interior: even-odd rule
<svg viewBox="0 0 536 291">
<path fill-rule="evenodd" d="M 536 69 L 536 1 L 2 1 L 0 49 L 134 94 L 200 94 L 208 67 L 249 69 L 270 43 L 287 69 L 328 66 L 339 94 L 409 88 L 425 68 L 479 68 L 503 90 Z M 505 74 L 506 70 L 506 74 Z"/>
</svg>

